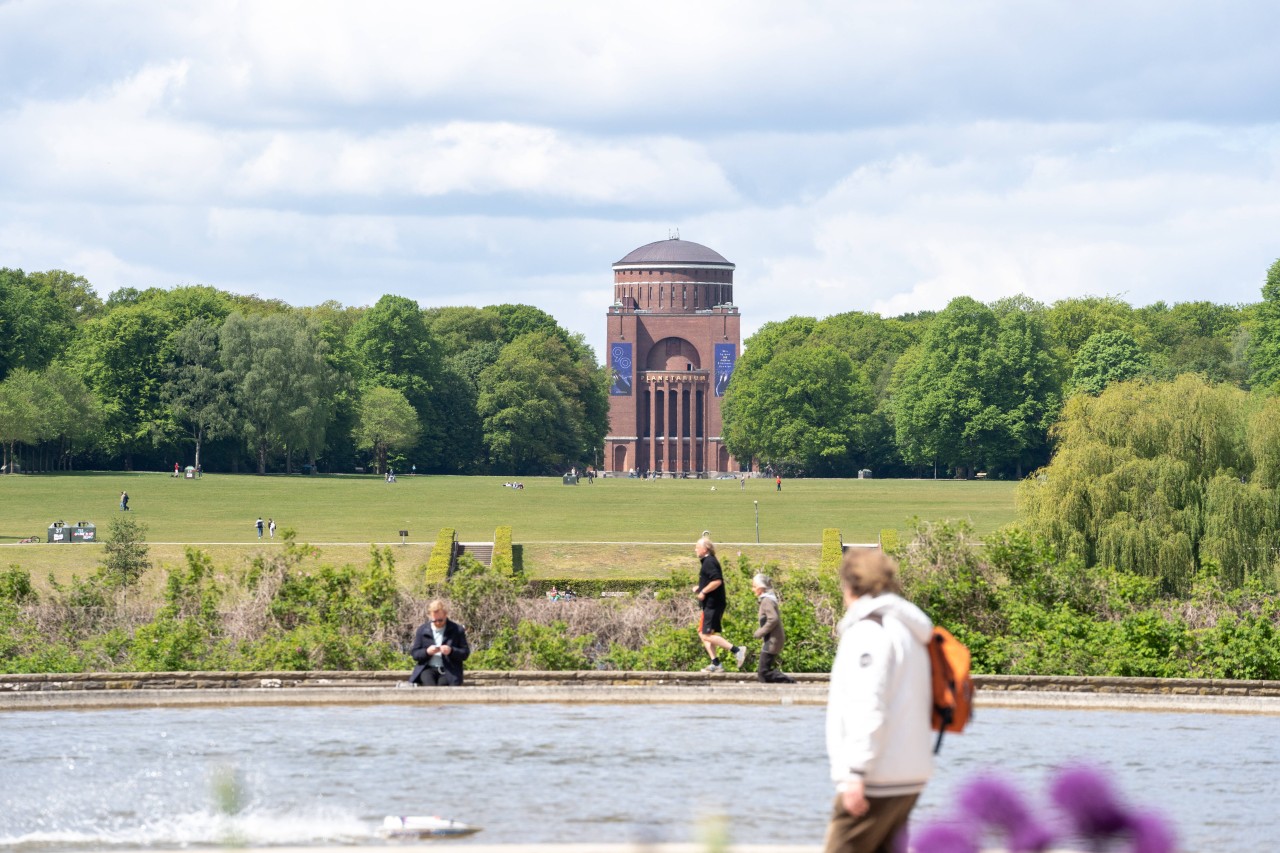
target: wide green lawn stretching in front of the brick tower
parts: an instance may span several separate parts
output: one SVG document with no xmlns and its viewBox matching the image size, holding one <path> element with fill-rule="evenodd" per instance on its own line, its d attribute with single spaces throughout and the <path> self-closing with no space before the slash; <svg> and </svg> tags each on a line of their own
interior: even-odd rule
<svg viewBox="0 0 1280 853">
<path fill-rule="evenodd" d="M 228 561 L 279 547 L 259 543 L 253 521 L 261 514 L 296 530 L 300 540 L 321 544 L 332 562 L 362 562 L 369 543 L 398 544 L 398 532 L 408 530 L 410 544 L 397 552 L 402 570 L 426 561 L 443 526 L 456 528 L 461 540 L 485 542 L 507 524 L 525 548 L 526 573 L 548 578 L 663 576 L 669 562 L 685 561 L 703 530 L 785 565 L 817 555 L 823 528 L 838 528 L 845 542 L 876 542 L 881 530 L 902 530 L 913 516 L 968 519 L 978 532 L 1014 519 L 1014 484 L 1001 482 L 785 480 L 781 492 L 763 479 L 745 489 L 735 480 L 522 482 L 516 491 L 494 476 L 403 476 L 397 483 L 229 474 L 198 480 L 123 473 L 0 476 L 0 565 L 41 578 L 87 571 L 99 558 L 95 546 L 14 543 L 44 539 L 58 520 L 91 521 L 105 535 L 120 512 L 122 491 L 129 493 L 133 517 L 147 525 L 160 564 L 180 560 L 184 544 Z"/>
</svg>

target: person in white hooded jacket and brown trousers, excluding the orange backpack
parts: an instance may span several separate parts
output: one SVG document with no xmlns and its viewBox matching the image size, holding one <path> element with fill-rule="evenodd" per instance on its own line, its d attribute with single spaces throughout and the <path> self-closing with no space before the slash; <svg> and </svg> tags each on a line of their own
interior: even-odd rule
<svg viewBox="0 0 1280 853">
<path fill-rule="evenodd" d="M 897 565 L 878 548 L 850 551 L 840 584 L 846 611 L 827 697 L 836 804 L 826 852 L 888 853 L 933 772 L 933 624 L 902 598 Z"/>
</svg>

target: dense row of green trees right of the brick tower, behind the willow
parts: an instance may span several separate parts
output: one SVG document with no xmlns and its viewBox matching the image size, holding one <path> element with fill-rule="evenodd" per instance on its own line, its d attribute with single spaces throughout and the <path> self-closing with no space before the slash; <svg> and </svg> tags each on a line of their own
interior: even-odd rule
<svg viewBox="0 0 1280 853">
<path fill-rule="evenodd" d="M 1280 261 L 1262 296 L 1143 307 L 957 297 L 937 313 L 767 323 L 735 369 L 724 438 L 737 459 L 812 476 L 1020 479 L 1048 462 L 1073 396 L 1183 374 L 1280 389 Z"/>
</svg>

